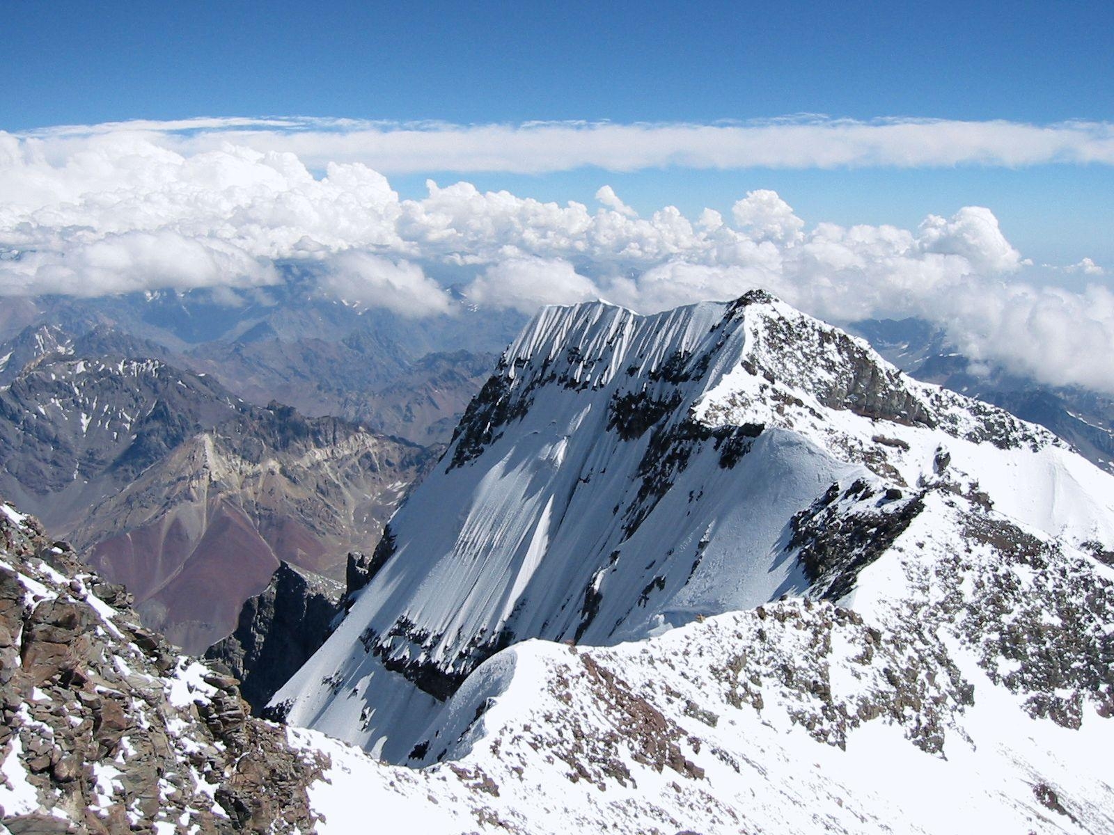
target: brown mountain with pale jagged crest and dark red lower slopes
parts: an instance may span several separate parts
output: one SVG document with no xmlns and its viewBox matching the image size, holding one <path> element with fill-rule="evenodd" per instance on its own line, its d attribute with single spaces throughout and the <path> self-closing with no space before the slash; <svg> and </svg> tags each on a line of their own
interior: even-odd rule
<svg viewBox="0 0 1114 835">
<path fill-rule="evenodd" d="M 436 451 L 272 406 L 182 444 L 94 505 L 74 540 L 145 622 L 202 652 L 280 562 L 332 578 L 370 549 Z"/>
</svg>

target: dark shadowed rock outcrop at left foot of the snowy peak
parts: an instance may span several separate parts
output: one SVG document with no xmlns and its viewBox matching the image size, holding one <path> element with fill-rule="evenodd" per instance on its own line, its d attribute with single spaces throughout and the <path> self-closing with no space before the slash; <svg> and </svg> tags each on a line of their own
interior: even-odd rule
<svg viewBox="0 0 1114 835">
<path fill-rule="evenodd" d="M 351 563 L 351 554 L 350 554 Z M 240 611 L 236 631 L 205 652 L 241 680 L 257 716 L 275 691 L 309 660 L 341 611 L 342 587 L 287 562 Z"/>
</svg>

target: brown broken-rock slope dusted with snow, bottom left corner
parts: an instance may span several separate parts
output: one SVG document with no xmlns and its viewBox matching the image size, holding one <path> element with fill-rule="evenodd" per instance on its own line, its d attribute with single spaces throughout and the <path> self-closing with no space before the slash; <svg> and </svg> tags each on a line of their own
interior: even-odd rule
<svg viewBox="0 0 1114 835">
<path fill-rule="evenodd" d="M 324 760 L 252 719 L 234 678 L 178 656 L 128 601 L 0 502 L 6 832 L 313 831 L 305 787 Z"/>
</svg>

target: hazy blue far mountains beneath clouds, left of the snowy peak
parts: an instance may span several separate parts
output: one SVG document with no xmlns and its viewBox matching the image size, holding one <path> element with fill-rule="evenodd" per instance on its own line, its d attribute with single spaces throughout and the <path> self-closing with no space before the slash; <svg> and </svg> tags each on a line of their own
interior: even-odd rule
<svg viewBox="0 0 1114 835">
<path fill-rule="evenodd" d="M 215 377 L 248 403 L 278 401 L 417 443 L 447 441 L 521 314 L 411 321 L 323 294 L 293 267 L 265 288 L 36 299 L 0 343 L 0 385 L 58 353 L 159 358 Z M 0 332 L 2 333 L 2 332 Z"/>
</svg>

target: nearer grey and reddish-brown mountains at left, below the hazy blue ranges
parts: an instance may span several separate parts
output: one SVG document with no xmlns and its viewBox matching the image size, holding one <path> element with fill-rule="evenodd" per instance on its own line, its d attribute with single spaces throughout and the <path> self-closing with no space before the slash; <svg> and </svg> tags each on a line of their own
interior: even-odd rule
<svg viewBox="0 0 1114 835">
<path fill-rule="evenodd" d="M 194 652 L 281 560 L 342 576 L 438 453 L 157 360 L 52 353 L 0 390 L 0 490 Z"/>
</svg>

